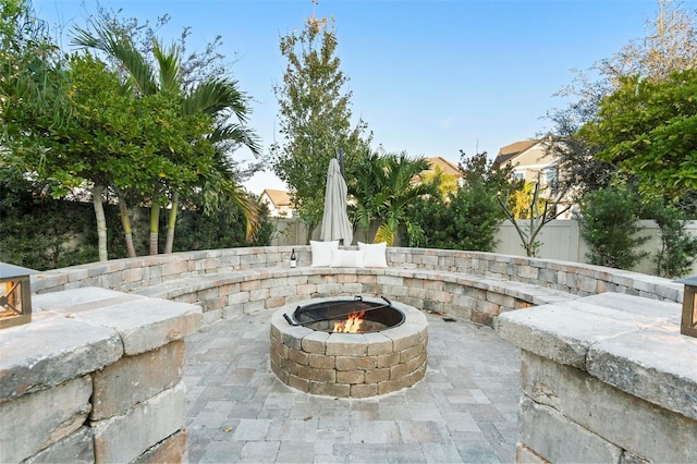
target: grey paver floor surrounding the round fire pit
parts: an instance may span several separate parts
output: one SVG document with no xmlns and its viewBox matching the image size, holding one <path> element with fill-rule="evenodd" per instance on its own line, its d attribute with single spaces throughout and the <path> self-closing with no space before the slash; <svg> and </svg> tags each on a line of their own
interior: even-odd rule
<svg viewBox="0 0 697 464">
<path fill-rule="evenodd" d="M 346 400 L 276 378 L 271 314 L 221 320 L 186 339 L 189 462 L 513 462 L 519 350 L 493 330 L 429 314 L 425 379 Z"/>
</svg>

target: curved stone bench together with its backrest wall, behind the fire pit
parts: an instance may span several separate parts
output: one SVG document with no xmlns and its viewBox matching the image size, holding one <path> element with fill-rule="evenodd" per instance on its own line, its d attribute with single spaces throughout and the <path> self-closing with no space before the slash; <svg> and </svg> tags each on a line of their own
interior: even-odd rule
<svg viewBox="0 0 697 464">
<path fill-rule="evenodd" d="M 491 326 L 499 314 L 603 292 L 682 301 L 667 279 L 491 253 L 389 247 L 388 268 L 314 268 L 309 246 L 229 248 L 94 262 L 32 277 L 36 293 L 100 286 L 199 304 L 204 323 L 313 296 L 384 295 Z M 351 249 L 355 247 L 346 247 Z"/>
</svg>

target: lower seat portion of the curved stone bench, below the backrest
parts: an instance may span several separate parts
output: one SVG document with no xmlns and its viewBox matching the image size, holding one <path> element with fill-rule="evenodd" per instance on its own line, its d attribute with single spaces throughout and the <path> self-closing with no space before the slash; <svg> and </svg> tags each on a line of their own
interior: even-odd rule
<svg viewBox="0 0 697 464">
<path fill-rule="evenodd" d="M 553 289 L 417 269 L 269 268 L 207 274 L 137 289 L 150 297 L 196 303 L 204 323 L 326 296 L 386 296 L 427 312 L 492 326 L 499 314 L 576 298 Z"/>
</svg>

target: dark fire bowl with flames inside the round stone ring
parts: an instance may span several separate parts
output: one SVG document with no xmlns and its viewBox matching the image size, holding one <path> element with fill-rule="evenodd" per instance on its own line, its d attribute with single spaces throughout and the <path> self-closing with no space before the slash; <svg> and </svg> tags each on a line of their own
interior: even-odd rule
<svg viewBox="0 0 697 464">
<path fill-rule="evenodd" d="M 383 302 L 338 300 L 298 306 L 293 317 L 285 315 L 291 326 L 303 326 L 323 332 L 377 332 L 396 327 L 404 321 L 404 314 L 392 306 L 384 296 Z M 293 320 L 295 319 L 295 320 Z"/>
</svg>

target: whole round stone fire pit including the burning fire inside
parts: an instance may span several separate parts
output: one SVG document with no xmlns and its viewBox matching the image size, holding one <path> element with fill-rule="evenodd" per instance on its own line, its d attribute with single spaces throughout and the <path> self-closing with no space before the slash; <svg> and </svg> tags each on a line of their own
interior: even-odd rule
<svg viewBox="0 0 697 464">
<path fill-rule="evenodd" d="M 283 383 L 367 398 L 424 378 L 428 323 L 417 308 L 384 297 L 317 298 L 278 309 L 270 342 L 271 370 Z"/>
</svg>

